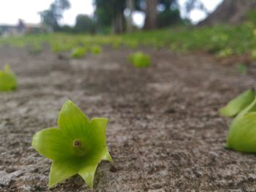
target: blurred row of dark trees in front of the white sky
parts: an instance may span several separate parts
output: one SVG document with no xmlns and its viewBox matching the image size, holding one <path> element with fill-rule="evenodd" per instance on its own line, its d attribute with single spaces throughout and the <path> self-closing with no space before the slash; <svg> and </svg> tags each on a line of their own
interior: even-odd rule
<svg viewBox="0 0 256 192">
<path fill-rule="evenodd" d="M 87 15 L 78 15 L 74 28 L 59 26 L 63 12 L 69 9 L 68 0 L 55 0 L 50 8 L 39 12 L 44 23 L 53 31 L 68 32 L 110 32 L 111 28 L 116 34 L 132 31 L 132 12 L 135 10 L 145 12 L 144 29 L 162 28 L 173 24 L 181 23 L 178 0 L 94 0 L 96 7 L 94 19 Z M 186 10 L 190 12 L 194 8 L 202 9 L 200 0 L 186 0 Z M 204 8 L 204 7 L 203 7 Z M 129 14 L 124 17 L 124 10 Z M 96 27 L 95 27 L 96 26 Z"/>
</svg>

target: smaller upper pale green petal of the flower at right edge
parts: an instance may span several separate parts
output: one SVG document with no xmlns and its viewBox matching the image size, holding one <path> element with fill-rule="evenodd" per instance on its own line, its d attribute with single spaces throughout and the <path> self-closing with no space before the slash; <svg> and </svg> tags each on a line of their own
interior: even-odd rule
<svg viewBox="0 0 256 192">
<path fill-rule="evenodd" d="M 239 112 L 244 110 L 255 99 L 255 90 L 250 89 L 238 95 L 227 103 L 225 107 L 219 110 L 219 113 L 225 117 L 233 117 L 238 115 Z"/>
</svg>

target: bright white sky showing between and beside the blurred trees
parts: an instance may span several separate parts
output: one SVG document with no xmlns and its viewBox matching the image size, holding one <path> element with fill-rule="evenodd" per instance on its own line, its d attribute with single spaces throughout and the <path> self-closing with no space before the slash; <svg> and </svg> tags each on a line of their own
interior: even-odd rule
<svg viewBox="0 0 256 192">
<path fill-rule="evenodd" d="M 64 12 L 62 23 L 74 25 L 75 17 L 78 14 L 92 15 L 94 7 L 93 0 L 69 0 L 71 9 Z M 178 0 L 179 4 L 184 4 L 185 0 Z M 202 0 L 208 10 L 214 10 L 222 0 Z M 39 23 L 39 11 L 48 9 L 53 0 L 1 0 L 0 6 L 0 23 L 16 24 L 21 18 L 25 23 Z M 183 14 L 181 12 L 181 14 Z M 136 12 L 133 15 L 135 23 L 139 26 L 143 23 L 143 15 Z M 200 10 L 194 10 L 190 14 L 192 21 L 196 23 L 198 20 L 205 18 L 206 15 Z"/>
</svg>

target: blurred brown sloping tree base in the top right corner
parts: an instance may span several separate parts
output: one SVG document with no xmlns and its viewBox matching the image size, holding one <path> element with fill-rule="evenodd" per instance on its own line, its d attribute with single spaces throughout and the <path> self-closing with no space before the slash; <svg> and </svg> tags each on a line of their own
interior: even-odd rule
<svg viewBox="0 0 256 192">
<path fill-rule="evenodd" d="M 199 25 L 213 25 L 215 23 L 237 24 L 246 20 L 246 13 L 256 8 L 255 0 L 224 0 L 206 20 Z"/>
</svg>

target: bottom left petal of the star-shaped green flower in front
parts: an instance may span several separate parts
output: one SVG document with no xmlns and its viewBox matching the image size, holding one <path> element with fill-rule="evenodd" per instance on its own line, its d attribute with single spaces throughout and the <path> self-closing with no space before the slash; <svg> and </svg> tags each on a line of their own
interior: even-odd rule
<svg viewBox="0 0 256 192">
<path fill-rule="evenodd" d="M 80 164 L 76 161 L 53 161 L 50 167 L 49 188 L 78 173 Z"/>
</svg>

